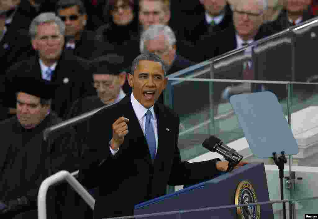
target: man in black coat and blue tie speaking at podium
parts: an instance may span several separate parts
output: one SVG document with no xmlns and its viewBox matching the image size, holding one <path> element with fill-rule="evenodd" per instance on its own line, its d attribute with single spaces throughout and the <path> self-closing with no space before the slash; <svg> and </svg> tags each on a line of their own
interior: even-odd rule
<svg viewBox="0 0 318 219">
<path fill-rule="evenodd" d="M 165 74 L 158 56 L 142 53 L 128 74 L 131 95 L 92 117 L 90 151 L 79 179 L 88 188 L 100 187 L 95 219 L 133 215 L 135 204 L 164 195 L 167 184 L 195 184 L 227 169 L 228 162 L 220 159 L 181 161 L 179 117 L 156 103 L 167 84 Z"/>
</svg>

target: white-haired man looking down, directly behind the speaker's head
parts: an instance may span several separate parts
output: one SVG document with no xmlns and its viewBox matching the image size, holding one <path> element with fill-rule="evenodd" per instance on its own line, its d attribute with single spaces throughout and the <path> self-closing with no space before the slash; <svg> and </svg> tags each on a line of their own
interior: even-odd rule
<svg viewBox="0 0 318 219">
<path fill-rule="evenodd" d="M 155 53 L 167 65 L 167 75 L 190 67 L 195 63 L 177 54 L 176 36 L 167 25 L 151 25 L 140 39 L 140 52 Z"/>
</svg>

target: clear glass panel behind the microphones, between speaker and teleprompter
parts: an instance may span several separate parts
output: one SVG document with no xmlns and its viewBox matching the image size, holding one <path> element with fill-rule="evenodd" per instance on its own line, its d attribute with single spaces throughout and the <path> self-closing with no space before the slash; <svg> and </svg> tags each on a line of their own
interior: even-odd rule
<svg viewBox="0 0 318 219">
<path fill-rule="evenodd" d="M 189 160 L 207 153 L 202 142 L 211 135 L 222 139 L 225 144 L 231 143 L 230 147 L 240 145 L 241 149 L 238 150 L 245 153 L 243 156 L 251 156 L 244 133 L 229 103 L 229 97 L 233 94 L 258 91 L 267 84 L 189 80 L 192 81 L 178 78 L 169 80 L 173 88 L 173 110 L 180 117 L 178 146 L 182 159 Z M 277 84 L 277 87 L 284 90 L 286 84 Z M 216 98 L 218 101 L 215 101 Z M 281 100 L 280 104 L 287 115 L 286 99 Z"/>
</svg>

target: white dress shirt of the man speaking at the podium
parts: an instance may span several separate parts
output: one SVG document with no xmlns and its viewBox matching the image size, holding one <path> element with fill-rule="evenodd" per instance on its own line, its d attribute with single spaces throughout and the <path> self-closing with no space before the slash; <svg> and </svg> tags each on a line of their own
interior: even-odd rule
<svg viewBox="0 0 318 219">
<path fill-rule="evenodd" d="M 155 132 L 155 138 L 156 138 L 156 152 L 158 151 L 158 128 L 157 128 L 157 123 L 158 121 L 156 120 L 156 115 L 155 115 L 155 111 L 154 111 L 154 106 L 150 107 L 149 109 L 145 108 L 142 104 L 140 104 L 140 102 L 138 102 L 136 100 L 136 98 L 134 97 L 133 93 L 131 93 L 130 95 L 130 101 L 133 105 L 133 109 L 135 111 L 136 117 L 138 119 L 138 122 L 141 126 L 142 132 L 145 135 L 145 130 L 146 130 L 146 112 L 148 110 L 151 111 L 153 118 L 151 119 L 151 124 L 152 127 L 154 128 L 154 132 Z M 129 119 L 129 118 L 128 118 Z M 128 122 L 128 131 L 129 131 L 129 122 Z M 112 152 L 113 155 L 115 155 L 117 151 L 114 151 L 111 147 L 110 151 Z"/>
</svg>

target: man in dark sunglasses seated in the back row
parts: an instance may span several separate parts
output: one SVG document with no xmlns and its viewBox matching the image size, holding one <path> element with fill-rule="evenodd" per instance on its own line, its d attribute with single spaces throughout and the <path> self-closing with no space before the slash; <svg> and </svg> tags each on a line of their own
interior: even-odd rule
<svg viewBox="0 0 318 219">
<path fill-rule="evenodd" d="M 94 59 L 114 47 L 96 39 L 96 34 L 86 30 L 86 9 L 81 0 L 60 0 L 55 12 L 65 24 L 65 48 L 84 59 Z"/>
</svg>

